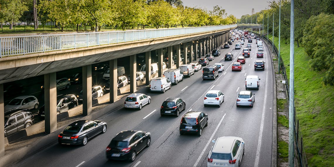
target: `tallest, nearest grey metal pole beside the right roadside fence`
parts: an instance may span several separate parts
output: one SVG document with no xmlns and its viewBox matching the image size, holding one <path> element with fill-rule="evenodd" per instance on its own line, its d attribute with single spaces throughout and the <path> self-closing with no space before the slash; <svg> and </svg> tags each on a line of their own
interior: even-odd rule
<svg viewBox="0 0 334 167">
<path fill-rule="evenodd" d="M 291 0 L 291 16 L 290 16 L 290 83 L 289 83 L 289 167 L 294 167 L 294 155 L 295 155 L 295 62 L 294 62 L 294 50 L 295 50 L 295 21 L 294 21 L 294 0 Z"/>
</svg>

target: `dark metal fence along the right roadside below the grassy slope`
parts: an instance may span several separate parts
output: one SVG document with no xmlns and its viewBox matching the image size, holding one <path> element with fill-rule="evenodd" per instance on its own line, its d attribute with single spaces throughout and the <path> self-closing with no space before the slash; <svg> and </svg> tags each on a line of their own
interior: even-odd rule
<svg viewBox="0 0 334 167">
<path fill-rule="evenodd" d="M 250 32 L 250 31 L 248 31 L 248 32 Z M 252 33 L 255 33 L 255 32 L 252 32 Z M 257 34 L 257 33 L 255 33 L 255 34 Z M 257 35 L 262 36 L 260 34 L 257 34 Z M 265 40 L 268 40 L 270 45 L 273 46 L 273 42 L 272 42 L 271 39 L 268 39 L 266 36 L 262 36 L 262 38 L 265 39 Z M 274 44 L 273 49 L 274 49 L 276 55 L 278 55 L 278 49 L 277 49 L 275 44 Z M 290 95 L 289 78 L 288 78 L 288 75 L 287 75 L 287 71 L 286 71 L 282 56 L 280 57 L 280 59 L 281 59 L 280 69 L 282 69 L 283 77 L 286 80 L 285 86 L 286 86 L 286 90 L 287 90 L 287 94 L 288 94 L 288 103 L 289 103 L 289 99 L 290 99 L 290 97 L 289 97 L 289 95 Z M 298 165 L 300 167 L 308 167 L 306 154 L 305 154 L 304 146 L 303 146 L 303 136 L 302 136 L 302 133 L 300 131 L 299 119 L 296 115 L 296 108 L 294 108 L 294 114 L 295 114 L 294 127 L 295 127 L 295 139 L 296 139 L 294 144 L 295 144 L 296 153 L 297 153 Z M 297 124 L 296 124 L 296 122 L 297 122 Z"/>
</svg>

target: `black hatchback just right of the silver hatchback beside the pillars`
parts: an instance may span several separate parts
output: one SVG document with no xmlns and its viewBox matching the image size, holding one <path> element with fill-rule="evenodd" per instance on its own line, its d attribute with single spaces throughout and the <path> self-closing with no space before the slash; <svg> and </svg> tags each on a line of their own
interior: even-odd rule
<svg viewBox="0 0 334 167">
<path fill-rule="evenodd" d="M 161 105 L 160 115 L 175 115 L 186 109 L 186 103 L 180 98 L 167 98 Z"/>
</svg>

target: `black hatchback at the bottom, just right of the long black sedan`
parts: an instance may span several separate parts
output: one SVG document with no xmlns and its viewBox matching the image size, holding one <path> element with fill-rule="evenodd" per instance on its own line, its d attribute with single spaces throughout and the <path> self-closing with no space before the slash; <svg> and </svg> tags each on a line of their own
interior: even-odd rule
<svg viewBox="0 0 334 167">
<path fill-rule="evenodd" d="M 136 155 L 151 144 L 151 133 L 144 131 L 122 131 L 118 133 L 106 148 L 110 160 L 135 161 Z"/>
</svg>

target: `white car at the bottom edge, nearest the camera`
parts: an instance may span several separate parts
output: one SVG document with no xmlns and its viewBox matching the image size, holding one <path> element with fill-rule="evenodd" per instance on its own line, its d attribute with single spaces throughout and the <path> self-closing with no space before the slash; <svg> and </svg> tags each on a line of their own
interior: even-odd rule
<svg viewBox="0 0 334 167">
<path fill-rule="evenodd" d="M 240 137 L 223 136 L 212 140 L 214 145 L 208 154 L 207 166 L 231 166 L 240 165 L 245 152 L 245 142 Z"/>
</svg>

